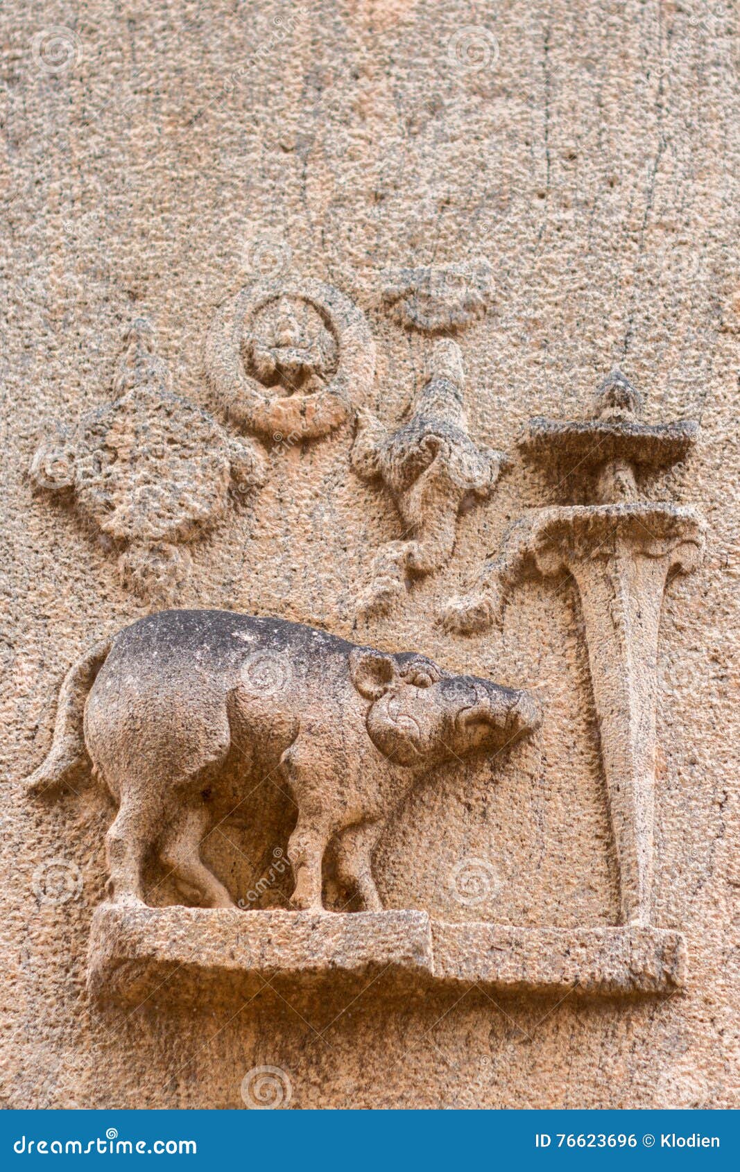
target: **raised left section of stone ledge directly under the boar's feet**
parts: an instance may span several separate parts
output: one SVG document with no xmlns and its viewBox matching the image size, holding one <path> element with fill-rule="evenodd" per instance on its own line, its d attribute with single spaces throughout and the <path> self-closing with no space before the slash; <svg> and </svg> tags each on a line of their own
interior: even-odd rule
<svg viewBox="0 0 740 1172">
<path fill-rule="evenodd" d="M 433 970 L 426 912 L 242 912 L 231 908 L 123 907 L 93 917 L 88 990 L 99 1000 L 141 1002 L 257 993 L 269 981 L 291 989 L 338 979 L 367 984 L 381 974 L 406 982 Z"/>
</svg>

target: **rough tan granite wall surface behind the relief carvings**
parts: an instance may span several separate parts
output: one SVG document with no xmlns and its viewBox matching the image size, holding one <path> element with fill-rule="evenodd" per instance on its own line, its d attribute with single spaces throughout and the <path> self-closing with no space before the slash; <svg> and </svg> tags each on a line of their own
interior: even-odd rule
<svg viewBox="0 0 740 1172">
<path fill-rule="evenodd" d="M 733 2 L 699 0 L 6 0 L 7 1105 L 240 1106 L 258 1065 L 288 1074 L 297 1108 L 736 1105 L 736 18 Z M 480 257 L 493 306 L 457 338 L 470 431 L 511 458 L 490 500 L 462 513 L 452 559 L 392 613 L 357 618 L 372 558 L 401 525 L 391 495 L 351 469 L 347 422 L 264 447 L 264 488 L 191 545 L 178 602 L 417 648 L 534 689 L 537 737 L 416 790 L 379 844 L 378 887 L 386 907 L 447 921 L 613 925 L 571 580 L 524 584 L 501 629 L 464 638 L 437 619 L 507 525 L 548 503 L 516 456 L 530 416 L 584 417 L 619 366 L 647 422 L 699 418 L 697 450 L 651 485 L 708 526 L 701 568 L 668 582 L 658 650 L 654 924 L 686 935 L 685 990 L 394 1000 L 371 986 L 300 1010 L 270 990 L 190 1010 L 91 1004 L 87 939 L 114 806 L 95 785 L 32 802 L 22 778 L 48 749 L 69 663 L 152 607 L 121 584 L 99 531 L 34 491 L 39 442 L 110 401 L 123 331 L 142 316 L 172 389 L 223 423 L 204 340 L 216 307 L 265 275 L 328 282 L 360 307 L 378 360 L 355 406 L 395 425 L 430 342 L 388 313 L 382 272 Z M 285 846 L 286 812 L 263 797 L 262 820 L 224 825 L 204 849 L 235 898 Z M 470 859 L 495 877 L 475 908 L 450 883 Z M 50 860 L 69 898 L 45 897 Z"/>
</svg>

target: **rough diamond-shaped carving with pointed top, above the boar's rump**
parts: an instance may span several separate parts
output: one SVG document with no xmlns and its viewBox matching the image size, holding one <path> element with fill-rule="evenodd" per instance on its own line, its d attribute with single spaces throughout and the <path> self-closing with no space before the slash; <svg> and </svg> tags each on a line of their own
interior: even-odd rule
<svg viewBox="0 0 740 1172">
<path fill-rule="evenodd" d="M 172 394 L 149 321 L 137 319 L 123 341 L 114 401 L 69 430 L 56 428 L 36 450 L 30 478 L 66 492 L 118 551 L 124 588 L 164 604 L 188 578 L 185 546 L 224 515 L 231 489 L 246 499 L 262 484 L 264 461 Z"/>
</svg>

